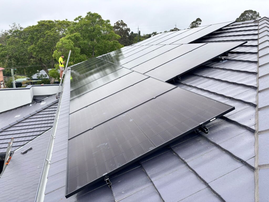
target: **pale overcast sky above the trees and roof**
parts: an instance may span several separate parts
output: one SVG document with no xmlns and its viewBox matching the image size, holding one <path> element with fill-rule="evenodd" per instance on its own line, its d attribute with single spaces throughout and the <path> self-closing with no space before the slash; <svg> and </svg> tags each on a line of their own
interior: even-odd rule
<svg viewBox="0 0 269 202">
<path fill-rule="evenodd" d="M 201 18 L 201 26 L 233 21 L 249 9 L 269 17 L 268 0 L 1 0 L 0 8 L 0 30 L 9 29 L 13 22 L 27 27 L 39 20 L 73 20 L 89 11 L 110 20 L 111 25 L 123 20 L 133 32 L 139 26 L 142 34 L 170 30 L 175 23 L 184 29 L 196 18 Z"/>
</svg>

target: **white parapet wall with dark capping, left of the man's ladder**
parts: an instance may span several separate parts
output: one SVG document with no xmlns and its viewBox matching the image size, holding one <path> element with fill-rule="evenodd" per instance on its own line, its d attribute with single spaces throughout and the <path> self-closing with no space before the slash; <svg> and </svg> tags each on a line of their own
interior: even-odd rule
<svg viewBox="0 0 269 202">
<path fill-rule="evenodd" d="M 0 89 L 0 112 L 27 105 L 32 102 L 33 96 L 56 94 L 58 88 L 59 84 L 48 84 L 43 86 L 28 85 L 26 88 Z"/>
</svg>

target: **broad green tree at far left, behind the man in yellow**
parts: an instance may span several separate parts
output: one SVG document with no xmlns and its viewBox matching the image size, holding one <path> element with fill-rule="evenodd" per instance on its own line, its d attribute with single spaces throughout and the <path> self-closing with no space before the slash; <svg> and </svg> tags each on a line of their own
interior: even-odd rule
<svg viewBox="0 0 269 202">
<path fill-rule="evenodd" d="M 28 77 L 42 69 L 48 74 L 48 69 L 54 68 L 56 62 L 52 56 L 56 43 L 66 35 L 70 23 L 67 20 L 41 20 L 25 29 L 13 24 L 10 30 L 1 34 L 4 43 L 0 45 L 0 65 L 24 66 L 16 73 L 26 73 Z M 50 77 L 50 81 L 53 83 L 54 78 Z"/>
</svg>

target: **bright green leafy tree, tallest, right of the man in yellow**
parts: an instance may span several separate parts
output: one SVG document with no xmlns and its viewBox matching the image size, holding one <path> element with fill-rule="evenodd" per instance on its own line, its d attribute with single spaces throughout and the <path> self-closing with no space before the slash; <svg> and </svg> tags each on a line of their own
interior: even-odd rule
<svg viewBox="0 0 269 202">
<path fill-rule="evenodd" d="M 70 41 L 65 41 L 65 39 L 71 40 L 74 43 L 73 47 L 80 51 L 79 57 L 82 55 L 83 58 L 85 55 L 88 59 L 123 47 L 118 42 L 120 36 L 115 34 L 110 21 L 102 19 L 98 13 L 88 12 L 84 18 L 79 16 L 74 20 L 75 22 L 68 29 L 69 34 L 58 43 L 71 45 Z M 61 52 L 59 48 L 56 51 Z"/>
</svg>

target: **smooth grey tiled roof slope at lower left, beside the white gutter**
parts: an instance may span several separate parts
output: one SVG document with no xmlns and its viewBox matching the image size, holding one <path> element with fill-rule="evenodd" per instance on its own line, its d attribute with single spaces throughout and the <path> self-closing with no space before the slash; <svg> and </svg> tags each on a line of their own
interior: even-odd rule
<svg viewBox="0 0 269 202">
<path fill-rule="evenodd" d="M 0 179 L 1 201 L 34 201 L 51 130 L 15 151 Z M 21 152 L 32 148 L 25 154 Z"/>
</svg>

